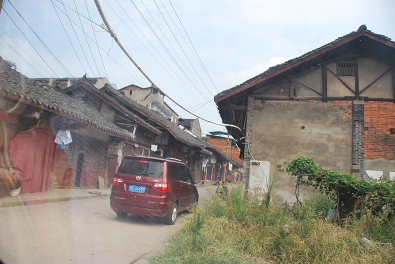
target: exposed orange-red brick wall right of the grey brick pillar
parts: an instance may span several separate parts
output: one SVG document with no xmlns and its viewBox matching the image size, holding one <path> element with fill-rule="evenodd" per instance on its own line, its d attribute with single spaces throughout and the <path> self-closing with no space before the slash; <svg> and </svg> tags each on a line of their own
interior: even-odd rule
<svg viewBox="0 0 395 264">
<path fill-rule="evenodd" d="M 395 103 L 365 101 L 365 159 L 395 160 Z"/>
</svg>

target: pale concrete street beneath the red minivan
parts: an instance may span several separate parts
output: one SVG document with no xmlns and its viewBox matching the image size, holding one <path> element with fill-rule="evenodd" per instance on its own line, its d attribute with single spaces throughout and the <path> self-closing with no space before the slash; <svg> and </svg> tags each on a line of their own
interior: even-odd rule
<svg viewBox="0 0 395 264">
<path fill-rule="evenodd" d="M 215 186 L 209 185 L 209 188 Z M 201 198 L 206 186 L 198 185 Z M 159 219 L 119 219 L 109 197 L 0 208 L 0 260 L 5 264 L 146 264 L 163 249 L 188 212 L 173 226 Z"/>
</svg>

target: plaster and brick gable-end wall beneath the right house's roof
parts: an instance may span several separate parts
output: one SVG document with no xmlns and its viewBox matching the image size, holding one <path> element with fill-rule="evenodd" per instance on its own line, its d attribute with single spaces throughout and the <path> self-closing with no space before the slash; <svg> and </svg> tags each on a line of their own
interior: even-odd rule
<svg viewBox="0 0 395 264">
<path fill-rule="evenodd" d="M 296 200 L 295 180 L 284 168 L 297 155 L 316 157 L 319 167 L 360 179 L 366 179 L 365 169 L 395 171 L 395 104 L 382 100 L 394 98 L 392 67 L 370 57 L 355 58 L 356 74 L 338 76 L 336 64 L 326 65 L 328 100 L 323 100 L 322 64 L 294 76 L 293 83 L 289 77 L 280 79 L 255 94 L 252 135 L 247 132 L 246 142 L 251 140 L 256 160 L 270 163 L 279 202 Z M 284 100 L 292 89 L 293 98 Z M 245 154 L 249 169 L 252 159 Z M 250 181 L 259 178 L 252 169 L 249 173 Z M 302 199 L 305 194 L 302 188 Z"/>
</svg>

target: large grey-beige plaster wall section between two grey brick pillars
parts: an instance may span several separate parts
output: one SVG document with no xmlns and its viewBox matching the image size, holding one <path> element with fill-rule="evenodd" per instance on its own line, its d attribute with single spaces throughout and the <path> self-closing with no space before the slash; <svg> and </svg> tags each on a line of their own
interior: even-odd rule
<svg viewBox="0 0 395 264">
<path fill-rule="evenodd" d="M 295 181 L 281 170 L 297 155 L 320 157 L 320 167 L 351 172 L 352 116 L 331 103 L 267 100 L 264 109 L 254 111 L 252 133 L 252 155 L 270 162 L 276 201 L 296 200 Z"/>
</svg>

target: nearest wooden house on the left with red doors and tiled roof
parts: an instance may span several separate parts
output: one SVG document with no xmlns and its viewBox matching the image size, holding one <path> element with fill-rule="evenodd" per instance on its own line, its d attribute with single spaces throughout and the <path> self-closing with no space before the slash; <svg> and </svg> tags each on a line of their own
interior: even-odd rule
<svg viewBox="0 0 395 264">
<path fill-rule="evenodd" d="M 22 172 L 23 193 L 111 182 L 110 142 L 136 138 L 109 119 L 106 104 L 87 103 L 61 88 L 29 79 L 0 58 L 0 166 Z"/>
</svg>

